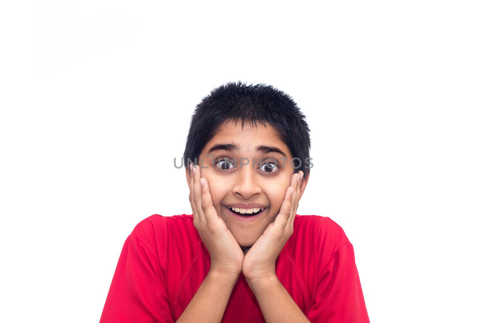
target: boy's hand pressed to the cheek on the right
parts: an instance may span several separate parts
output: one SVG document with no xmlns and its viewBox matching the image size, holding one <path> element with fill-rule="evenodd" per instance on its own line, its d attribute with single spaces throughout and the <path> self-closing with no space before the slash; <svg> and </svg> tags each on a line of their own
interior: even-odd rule
<svg viewBox="0 0 485 323">
<path fill-rule="evenodd" d="M 276 259 L 293 234 L 293 222 L 300 198 L 302 177 L 302 171 L 291 176 L 290 186 L 286 190 L 285 198 L 275 221 L 268 225 L 264 233 L 244 256 L 242 274 L 248 283 L 276 276 Z"/>
</svg>

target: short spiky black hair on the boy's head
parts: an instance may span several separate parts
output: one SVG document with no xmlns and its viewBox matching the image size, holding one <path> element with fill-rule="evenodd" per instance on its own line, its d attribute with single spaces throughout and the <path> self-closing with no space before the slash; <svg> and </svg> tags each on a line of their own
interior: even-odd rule
<svg viewBox="0 0 485 323">
<path fill-rule="evenodd" d="M 242 128 L 244 121 L 252 125 L 260 122 L 265 127 L 266 123 L 273 126 L 292 157 L 301 161 L 299 168 L 296 168 L 298 160 L 294 161 L 294 172 L 302 170 L 307 177 L 311 167 L 310 130 L 300 108 L 288 94 L 271 85 L 246 85 L 241 81 L 214 88 L 196 105 L 185 144 L 185 168 L 189 167 L 188 160 L 199 160 L 202 149 L 224 122 L 238 120 L 241 120 Z M 290 162 L 288 160 L 285 164 Z"/>
</svg>

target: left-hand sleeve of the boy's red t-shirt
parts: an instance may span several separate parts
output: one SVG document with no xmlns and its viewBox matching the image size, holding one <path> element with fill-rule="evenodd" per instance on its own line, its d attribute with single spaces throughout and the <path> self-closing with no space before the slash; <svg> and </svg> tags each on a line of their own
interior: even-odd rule
<svg viewBox="0 0 485 323">
<path fill-rule="evenodd" d="M 99 322 L 173 323 L 159 255 L 151 240 L 142 241 L 136 230 L 123 245 Z"/>
</svg>

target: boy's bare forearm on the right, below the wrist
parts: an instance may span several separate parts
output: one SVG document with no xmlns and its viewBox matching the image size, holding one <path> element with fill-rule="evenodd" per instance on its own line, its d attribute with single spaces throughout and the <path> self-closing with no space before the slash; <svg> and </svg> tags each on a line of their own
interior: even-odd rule
<svg viewBox="0 0 485 323">
<path fill-rule="evenodd" d="M 258 300 L 266 322 L 310 322 L 276 276 L 259 280 L 247 279 L 247 282 Z"/>
</svg>

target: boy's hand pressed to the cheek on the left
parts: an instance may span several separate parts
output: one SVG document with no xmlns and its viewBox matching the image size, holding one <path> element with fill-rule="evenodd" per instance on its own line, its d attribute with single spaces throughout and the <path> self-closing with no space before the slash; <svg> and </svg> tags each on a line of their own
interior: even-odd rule
<svg viewBox="0 0 485 323">
<path fill-rule="evenodd" d="M 194 226 L 209 250 L 210 271 L 239 276 L 244 253 L 212 205 L 209 183 L 206 178 L 200 178 L 200 167 L 193 167 L 191 163 L 189 172 L 189 200 L 194 212 Z"/>
</svg>

